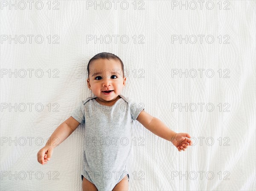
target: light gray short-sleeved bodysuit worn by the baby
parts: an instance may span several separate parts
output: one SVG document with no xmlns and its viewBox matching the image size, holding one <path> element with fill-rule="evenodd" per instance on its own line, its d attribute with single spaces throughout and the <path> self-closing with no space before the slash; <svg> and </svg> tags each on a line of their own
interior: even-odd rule
<svg viewBox="0 0 256 191">
<path fill-rule="evenodd" d="M 126 165 L 131 152 L 132 127 L 144 104 L 119 96 L 112 106 L 88 97 L 71 114 L 79 123 L 85 123 L 81 179 L 85 177 L 98 191 L 112 191 L 126 174 L 130 179 Z"/>
</svg>

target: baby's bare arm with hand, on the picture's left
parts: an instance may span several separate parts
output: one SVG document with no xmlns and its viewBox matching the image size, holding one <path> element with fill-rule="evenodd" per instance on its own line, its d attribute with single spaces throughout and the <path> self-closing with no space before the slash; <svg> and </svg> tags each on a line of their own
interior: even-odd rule
<svg viewBox="0 0 256 191">
<path fill-rule="evenodd" d="M 47 160 L 50 160 L 52 156 L 53 148 L 61 144 L 67 137 L 72 134 L 79 126 L 79 122 L 73 117 L 69 117 L 61 125 L 59 125 L 52 133 L 51 137 L 47 141 L 46 145 L 38 151 L 37 159 L 42 165 L 47 164 Z"/>
</svg>

